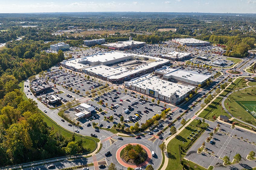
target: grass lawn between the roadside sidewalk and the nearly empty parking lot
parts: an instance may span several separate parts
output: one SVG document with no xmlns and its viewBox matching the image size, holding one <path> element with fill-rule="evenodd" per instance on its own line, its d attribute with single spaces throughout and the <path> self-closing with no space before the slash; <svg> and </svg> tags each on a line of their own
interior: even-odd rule
<svg viewBox="0 0 256 170">
<path fill-rule="evenodd" d="M 193 125 L 193 126 L 192 126 Z M 183 146 L 184 148 L 187 147 L 192 141 L 187 139 L 189 135 L 192 132 L 195 132 L 194 129 L 200 130 L 203 132 L 202 128 L 196 127 L 197 120 L 192 121 L 183 131 L 181 131 L 179 134 L 176 135 L 175 138 L 173 138 L 167 145 L 167 152 L 168 152 L 168 166 L 167 169 L 175 169 L 175 170 L 181 170 L 183 166 L 181 165 L 180 158 L 183 159 L 185 156 L 185 153 L 180 153 L 179 145 Z M 206 126 L 206 123 L 204 124 Z M 205 168 L 201 167 L 200 165 L 197 165 L 191 161 L 184 160 L 184 165 L 188 165 L 190 170 L 206 170 Z M 197 168 L 195 168 L 197 166 Z M 212 168 L 209 168 L 212 169 Z"/>
</svg>

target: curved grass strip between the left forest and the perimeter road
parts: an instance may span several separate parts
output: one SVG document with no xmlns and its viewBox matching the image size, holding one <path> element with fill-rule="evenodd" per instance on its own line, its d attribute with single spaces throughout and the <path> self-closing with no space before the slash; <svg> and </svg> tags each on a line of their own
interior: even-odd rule
<svg viewBox="0 0 256 170">
<path fill-rule="evenodd" d="M 23 92 L 23 89 L 24 89 L 23 82 L 21 82 L 19 84 L 19 86 L 21 87 L 20 90 Z M 27 100 L 27 98 L 26 98 L 24 93 L 23 93 L 23 97 L 24 97 L 24 99 Z M 39 110 L 39 112 L 42 113 L 43 121 L 46 122 L 46 124 L 49 127 L 51 127 L 54 130 L 58 131 L 64 137 L 71 137 L 72 136 L 72 134 L 73 134 L 72 132 L 67 131 L 66 129 L 58 126 L 54 121 L 51 121 L 51 119 L 47 115 L 45 115 L 42 111 Z M 83 140 L 83 146 L 84 146 L 84 148 L 86 148 L 88 150 L 88 152 L 93 152 L 96 149 L 96 145 L 97 145 L 96 143 L 98 143 L 100 141 L 98 138 L 90 137 L 90 136 L 87 136 L 87 138 L 85 138 L 85 137 L 83 137 L 82 135 L 79 135 L 79 134 L 75 134 L 75 139 L 76 140 L 82 139 Z"/>
</svg>

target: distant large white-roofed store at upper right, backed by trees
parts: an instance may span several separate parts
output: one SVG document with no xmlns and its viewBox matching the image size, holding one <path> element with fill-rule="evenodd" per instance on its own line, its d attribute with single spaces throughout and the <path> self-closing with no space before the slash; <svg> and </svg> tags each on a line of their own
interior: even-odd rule
<svg viewBox="0 0 256 170">
<path fill-rule="evenodd" d="M 207 46 L 210 45 L 210 42 L 202 41 L 194 38 L 175 38 L 172 39 L 174 43 L 178 43 L 182 46 Z"/>
</svg>

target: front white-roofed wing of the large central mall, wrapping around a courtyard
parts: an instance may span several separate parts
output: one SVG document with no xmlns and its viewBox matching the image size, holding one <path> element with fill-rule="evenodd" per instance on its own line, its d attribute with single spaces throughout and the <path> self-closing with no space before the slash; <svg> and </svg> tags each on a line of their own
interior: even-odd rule
<svg viewBox="0 0 256 170">
<path fill-rule="evenodd" d="M 123 83 L 123 81 L 150 73 L 169 63 L 167 59 L 134 54 L 132 60 L 123 63 L 122 66 L 120 64 L 116 67 L 96 65 L 83 69 L 83 72 L 109 82 Z"/>
</svg>

